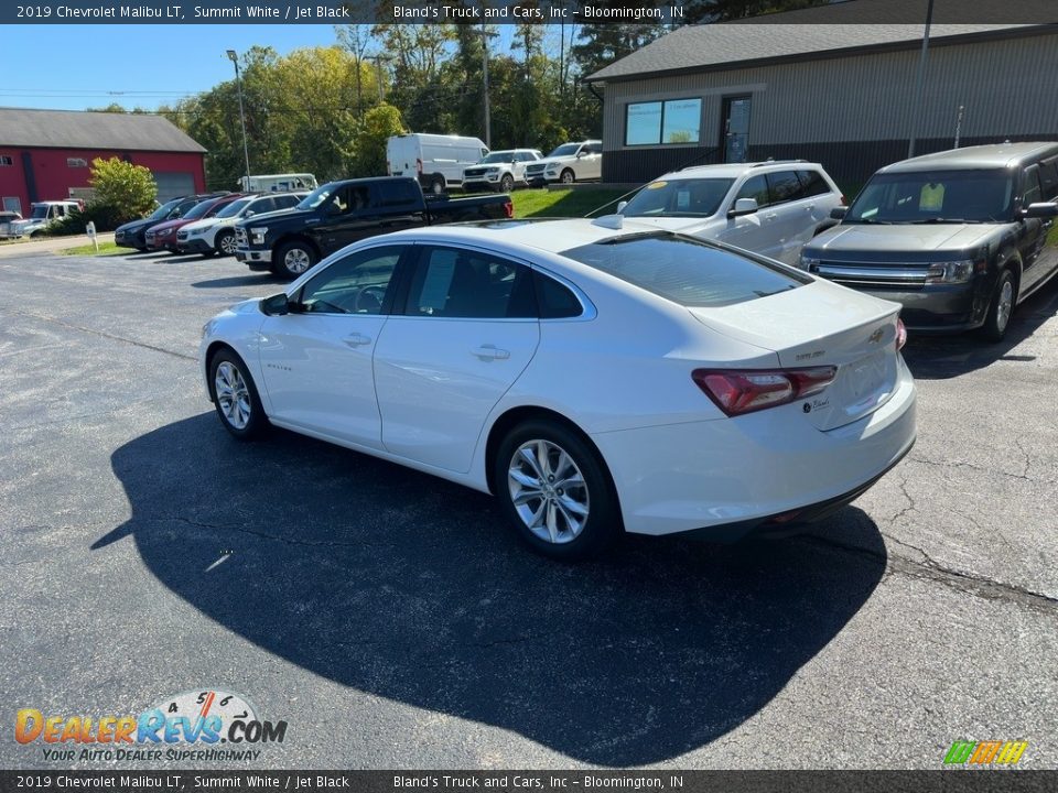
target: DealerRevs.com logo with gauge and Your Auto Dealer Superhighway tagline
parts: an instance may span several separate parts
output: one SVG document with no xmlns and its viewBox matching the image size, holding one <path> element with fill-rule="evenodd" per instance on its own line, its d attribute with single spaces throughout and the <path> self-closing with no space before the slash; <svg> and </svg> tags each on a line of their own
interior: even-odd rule
<svg viewBox="0 0 1058 793">
<path fill-rule="evenodd" d="M 246 697 L 216 689 L 165 697 L 139 716 L 22 708 L 14 717 L 14 739 L 41 745 L 43 759 L 52 761 L 252 761 L 261 754 L 257 745 L 282 743 L 285 737 L 287 721 L 262 720 Z"/>
</svg>

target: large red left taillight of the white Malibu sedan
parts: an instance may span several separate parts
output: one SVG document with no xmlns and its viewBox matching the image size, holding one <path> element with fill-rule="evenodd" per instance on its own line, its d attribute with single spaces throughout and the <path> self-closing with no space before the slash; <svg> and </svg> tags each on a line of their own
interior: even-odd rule
<svg viewBox="0 0 1058 793">
<path fill-rule="evenodd" d="M 819 393 L 833 382 L 838 367 L 810 369 L 695 369 L 691 377 L 727 415 L 776 408 Z"/>
</svg>

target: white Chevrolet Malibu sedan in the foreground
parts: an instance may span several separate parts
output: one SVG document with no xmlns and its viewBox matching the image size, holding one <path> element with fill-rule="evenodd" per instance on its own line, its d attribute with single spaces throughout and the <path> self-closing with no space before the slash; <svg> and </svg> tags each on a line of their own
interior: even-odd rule
<svg viewBox="0 0 1058 793">
<path fill-rule="evenodd" d="M 559 558 L 849 503 L 915 442 L 899 306 L 617 216 L 356 243 L 203 329 L 237 438 L 274 424 L 499 498 Z"/>
</svg>

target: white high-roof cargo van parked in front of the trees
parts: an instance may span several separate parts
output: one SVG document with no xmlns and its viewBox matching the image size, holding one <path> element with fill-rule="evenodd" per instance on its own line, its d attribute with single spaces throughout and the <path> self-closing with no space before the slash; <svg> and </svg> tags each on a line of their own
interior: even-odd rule
<svg viewBox="0 0 1058 793">
<path fill-rule="evenodd" d="M 413 132 L 393 135 L 386 143 L 390 176 L 414 176 L 423 189 L 443 193 L 463 184 L 463 169 L 488 154 L 477 138 Z"/>
</svg>

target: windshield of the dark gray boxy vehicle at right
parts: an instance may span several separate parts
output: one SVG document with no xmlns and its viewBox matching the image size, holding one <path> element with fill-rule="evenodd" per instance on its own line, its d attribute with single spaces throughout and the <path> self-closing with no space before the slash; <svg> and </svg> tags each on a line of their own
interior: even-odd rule
<svg viewBox="0 0 1058 793">
<path fill-rule="evenodd" d="M 874 175 L 843 222 L 1005 222 L 1013 217 L 1014 175 L 1005 169 Z"/>
</svg>

